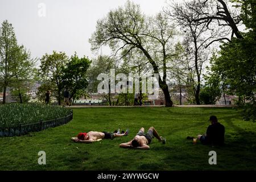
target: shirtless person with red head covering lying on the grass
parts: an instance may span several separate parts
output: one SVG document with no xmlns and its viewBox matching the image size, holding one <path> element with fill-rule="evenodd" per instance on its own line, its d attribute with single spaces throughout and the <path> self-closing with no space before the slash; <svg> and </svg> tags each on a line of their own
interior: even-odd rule
<svg viewBox="0 0 256 182">
<path fill-rule="evenodd" d="M 71 138 L 74 142 L 80 143 L 92 143 L 99 141 L 101 139 L 114 139 L 114 137 L 123 137 L 129 134 L 129 130 L 127 129 L 125 133 L 118 134 L 118 133 L 108 133 L 105 131 L 98 132 L 98 131 L 89 131 L 88 133 L 79 133 L 77 137 Z"/>
</svg>

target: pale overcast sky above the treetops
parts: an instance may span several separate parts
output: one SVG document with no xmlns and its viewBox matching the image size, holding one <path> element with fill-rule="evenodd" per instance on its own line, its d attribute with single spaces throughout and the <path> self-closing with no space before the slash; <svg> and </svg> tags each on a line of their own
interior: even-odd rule
<svg viewBox="0 0 256 182">
<path fill-rule="evenodd" d="M 95 57 L 88 39 L 96 22 L 110 10 L 125 5 L 126 0 L 0 0 L 0 22 L 14 26 L 19 44 L 41 57 L 53 50 L 71 56 Z M 156 14 L 166 0 L 133 0 L 145 14 Z M 43 4 L 42 4 L 43 3 Z M 44 14 L 44 6 L 46 11 Z M 45 16 L 44 16 L 45 15 Z M 100 52 L 99 52 L 100 53 Z M 102 53 L 108 53 L 104 50 Z"/>
</svg>

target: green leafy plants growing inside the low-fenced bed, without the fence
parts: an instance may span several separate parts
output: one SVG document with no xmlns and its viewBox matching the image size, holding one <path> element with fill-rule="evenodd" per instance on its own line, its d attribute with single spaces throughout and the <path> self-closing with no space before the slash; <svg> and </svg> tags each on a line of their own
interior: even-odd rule
<svg viewBox="0 0 256 182">
<path fill-rule="evenodd" d="M 18 126 L 27 123 L 47 121 L 64 117 L 71 113 L 66 107 L 43 104 L 5 104 L 0 105 L 0 127 Z"/>
</svg>

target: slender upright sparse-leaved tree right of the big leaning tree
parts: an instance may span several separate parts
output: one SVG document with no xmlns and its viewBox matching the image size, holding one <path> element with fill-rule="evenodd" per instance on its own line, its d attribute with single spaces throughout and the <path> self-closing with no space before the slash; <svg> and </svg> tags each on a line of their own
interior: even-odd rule
<svg viewBox="0 0 256 182">
<path fill-rule="evenodd" d="M 197 105 L 200 105 L 199 95 L 204 65 L 209 59 L 209 49 L 205 48 L 220 34 L 225 35 L 219 29 L 209 30 L 206 22 L 195 23 L 193 21 L 199 16 L 195 9 L 199 9 L 200 6 L 196 0 L 184 1 L 183 3 L 172 3 L 165 10 L 168 17 L 184 32 L 183 44 L 187 53 L 188 76 Z"/>
</svg>

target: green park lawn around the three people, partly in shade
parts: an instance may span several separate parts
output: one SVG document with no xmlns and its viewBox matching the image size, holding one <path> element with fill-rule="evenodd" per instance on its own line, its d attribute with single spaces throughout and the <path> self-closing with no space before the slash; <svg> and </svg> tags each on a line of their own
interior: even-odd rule
<svg viewBox="0 0 256 182">
<path fill-rule="evenodd" d="M 67 125 L 22 137 L 0 137 L 0 170 L 255 170 L 256 123 L 242 121 L 232 108 L 104 107 L 73 109 Z M 210 115 L 225 126 L 225 146 L 193 146 L 187 136 L 203 134 Z M 156 138 L 150 150 L 119 148 L 141 127 L 154 126 L 166 138 Z M 126 137 L 90 144 L 70 140 L 79 132 L 130 129 Z M 46 152 L 46 165 L 38 152 Z M 217 165 L 209 165 L 209 151 L 217 152 Z"/>
</svg>

